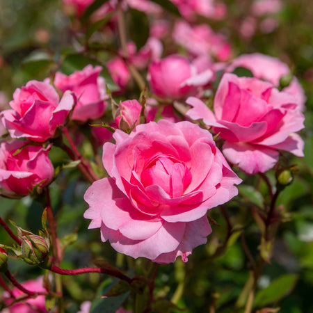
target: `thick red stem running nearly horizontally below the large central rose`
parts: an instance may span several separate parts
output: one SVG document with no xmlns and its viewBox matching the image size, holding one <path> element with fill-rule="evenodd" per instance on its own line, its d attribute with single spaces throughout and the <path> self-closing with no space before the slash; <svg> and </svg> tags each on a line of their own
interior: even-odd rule
<svg viewBox="0 0 313 313">
<path fill-rule="evenodd" d="M 122 272 L 108 269 L 108 268 L 99 268 L 99 267 L 85 267 L 85 268 L 77 268 L 74 270 L 67 270 L 64 268 L 59 268 L 58 266 L 52 264 L 51 268 L 49 268 L 50 271 L 54 273 L 58 273 L 61 275 L 81 275 L 86 273 L 102 273 L 102 274 L 108 274 L 110 276 L 120 278 L 120 280 L 125 280 L 125 282 L 131 283 L 131 278 L 129 278 L 127 275 L 124 275 Z"/>
</svg>

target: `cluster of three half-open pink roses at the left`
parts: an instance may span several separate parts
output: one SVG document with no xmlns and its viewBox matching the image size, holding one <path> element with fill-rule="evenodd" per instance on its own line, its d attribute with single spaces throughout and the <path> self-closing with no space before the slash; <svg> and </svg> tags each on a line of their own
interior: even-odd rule
<svg viewBox="0 0 313 313">
<path fill-rule="evenodd" d="M 15 90 L 10 102 L 12 109 L 1 112 L 3 127 L 15 139 L 0 146 L 1 188 L 27 195 L 34 187 L 51 183 L 54 178 L 54 167 L 48 157 L 51 144 L 40 144 L 60 136 L 69 119 L 86 122 L 104 114 L 107 95 L 105 81 L 99 77 L 101 70 L 88 65 L 69 77 L 56 73 L 54 84 L 63 92 L 61 99 L 49 79 L 29 81 Z"/>
</svg>

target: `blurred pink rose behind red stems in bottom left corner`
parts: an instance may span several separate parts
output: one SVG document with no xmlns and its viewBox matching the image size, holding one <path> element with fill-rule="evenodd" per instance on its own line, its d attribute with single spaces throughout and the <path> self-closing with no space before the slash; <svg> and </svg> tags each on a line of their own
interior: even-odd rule
<svg viewBox="0 0 313 313">
<path fill-rule="evenodd" d="M 27 280 L 26 282 L 22 282 L 22 286 L 28 289 L 29 291 L 34 292 L 47 292 L 47 290 L 42 287 L 43 278 L 40 276 L 36 280 Z M 15 298 L 26 296 L 23 291 L 20 291 L 18 288 L 12 289 L 13 295 Z M 10 298 L 8 292 L 3 292 L 3 302 L 6 305 L 9 305 L 13 302 L 13 298 Z M 35 298 L 28 298 L 23 303 L 15 303 L 7 308 L 10 313 L 47 313 L 47 309 L 45 306 L 45 296 L 37 296 Z"/>
</svg>

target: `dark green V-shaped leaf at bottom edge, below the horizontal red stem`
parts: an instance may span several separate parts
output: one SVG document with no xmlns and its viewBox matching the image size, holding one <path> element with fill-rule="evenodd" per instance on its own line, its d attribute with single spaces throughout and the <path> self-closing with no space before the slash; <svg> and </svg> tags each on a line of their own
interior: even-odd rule
<svg viewBox="0 0 313 313">
<path fill-rule="evenodd" d="M 95 300 L 91 305 L 90 313 L 115 313 L 116 310 L 118 310 L 118 308 L 129 296 L 130 291 L 120 296 L 102 298 L 102 296 L 109 292 L 109 290 L 116 284 L 116 282 L 118 282 L 117 279 L 109 278 L 101 284 L 97 290 Z"/>
</svg>

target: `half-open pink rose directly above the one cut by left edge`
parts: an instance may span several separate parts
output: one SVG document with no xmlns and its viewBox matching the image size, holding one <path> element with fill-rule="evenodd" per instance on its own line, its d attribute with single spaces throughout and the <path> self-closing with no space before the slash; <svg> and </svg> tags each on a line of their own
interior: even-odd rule
<svg viewBox="0 0 313 313">
<path fill-rule="evenodd" d="M 67 92 L 59 101 L 58 93 L 47 82 L 29 81 L 13 94 L 13 110 L 1 113 L 4 127 L 13 138 L 29 138 L 40 143 L 56 136 L 74 106 L 74 96 Z"/>
</svg>

